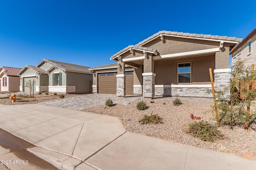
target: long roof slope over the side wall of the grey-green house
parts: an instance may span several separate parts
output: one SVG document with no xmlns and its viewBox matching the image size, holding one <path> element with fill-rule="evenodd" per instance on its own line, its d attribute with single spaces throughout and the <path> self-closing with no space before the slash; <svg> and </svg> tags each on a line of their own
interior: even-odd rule
<svg viewBox="0 0 256 170">
<path fill-rule="evenodd" d="M 88 70 L 88 68 L 89 68 L 88 66 L 81 66 L 81 65 L 76 65 L 76 64 L 64 63 L 64 62 L 60 62 L 60 61 L 48 60 L 48 59 L 44 59 L 43 61 L 52 63 L 52 64 L 54 64 L 54 66 L 56 66 L 64 71 L 75 71 L 75 72 L 84 72 L 84 73 L 92 74 L 92 72 L 90 72 L 90 70 Z"/>
</svg>

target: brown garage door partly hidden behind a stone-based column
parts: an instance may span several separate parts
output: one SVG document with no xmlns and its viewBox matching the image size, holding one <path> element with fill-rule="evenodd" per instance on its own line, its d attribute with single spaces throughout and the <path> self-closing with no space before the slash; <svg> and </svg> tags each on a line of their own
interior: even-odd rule
<svg viewBox="0 0 256 170">
<path fill-rule="evenodd" d="M 98 74 L 98 92 L 102 94 L 116 94 L 116 74 Z M 133 72 L 126 72 L 126 95 L 133 94 Z"/>
</svg>

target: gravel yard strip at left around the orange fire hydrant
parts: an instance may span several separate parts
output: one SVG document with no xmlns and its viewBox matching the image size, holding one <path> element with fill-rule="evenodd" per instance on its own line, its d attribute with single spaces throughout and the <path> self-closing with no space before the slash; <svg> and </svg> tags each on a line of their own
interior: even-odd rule
<svg viewBox="0 0 256 170">
<path fill-rule="evenodd" d="M 34 94 L 34 98 L 30 98 L 29 95 L 20 94 L 16 96 L 16 102 L 12 103 L 10 98 L 0 97 L 0 104 L 2 105 L 17 105 L 17 104 L 37 104 L 41 102 L 48 102 L 52 100 L 60 100 L 60 94 L 54 95 L 53 93 L 49 93 L 48 95 L 42 94 Z M 81 94 L 64 94 L 65 98 L 70 98 L 74 96 L 79 96 Z"/>
</svg>

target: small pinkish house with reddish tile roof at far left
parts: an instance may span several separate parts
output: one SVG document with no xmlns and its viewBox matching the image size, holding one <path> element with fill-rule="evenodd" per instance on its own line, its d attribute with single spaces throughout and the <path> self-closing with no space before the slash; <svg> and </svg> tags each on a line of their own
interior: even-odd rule
<svg viewBox="0 0 256 170">
<path fill-rule="evenodd" d="M 0 91 L 18 92 L 20 77 L 18 72 L 21 68 L 5 67 L 0 68 Z"/>
</svg>

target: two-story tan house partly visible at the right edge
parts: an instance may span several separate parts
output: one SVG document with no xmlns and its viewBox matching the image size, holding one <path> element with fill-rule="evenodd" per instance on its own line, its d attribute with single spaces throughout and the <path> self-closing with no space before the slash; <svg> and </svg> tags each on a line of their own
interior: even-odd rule
<svg viewBox="0 0 256 170">
<path fill-rule="evenodd" d="M 256 63 L 256 28 L 254 28 L 238 45 L 231 51 L 232 65 L 241 59 L 248 67 Z"/>
</svg>

